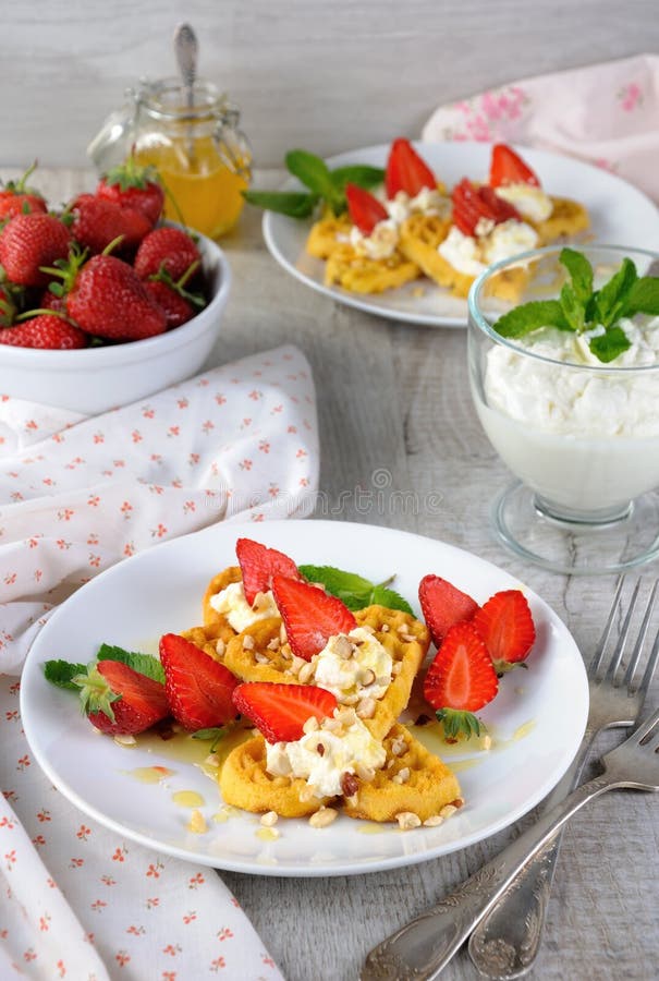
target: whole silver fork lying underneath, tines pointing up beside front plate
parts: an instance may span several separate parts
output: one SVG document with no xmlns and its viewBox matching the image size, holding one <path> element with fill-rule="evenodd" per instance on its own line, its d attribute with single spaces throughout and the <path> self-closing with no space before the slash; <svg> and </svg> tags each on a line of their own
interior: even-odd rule
<svg viewBox="0 0 659 981">
<path fill-rule="evenodd" d="M 621 666 L 622 657 L 630 639 L 640 580 L 636 582 L 618 642 L 607 658 L 605 657 L 606 650 L 621 605 L 623 578 L 619 580 L 603 633 L 588 665 L 590 707 L 586 731 L 574 762 L 547 798 L 545 810 L 552 808 L 577 785 L 586 758 L 598 732 L 618 726 L 634 725 L 640 716 L 645 695 L 659 657 L 658 632 L 645 671 L 640 675 L 638 664 L 650 625 L 658 586 L 659 581 L 655 582 L 650 592 L 636 643 L 626 669 L 624 669 Z M 561 838 L 561 835 L 557 835 L 554 840 L 523 869 L 511 884 L 510 889 L 472 934 L 469 955 L 479 972 L 485 977 L 508 981 L 508 979 L 525 974 L 533 967 L 542 940 Z"/>
</svg>

